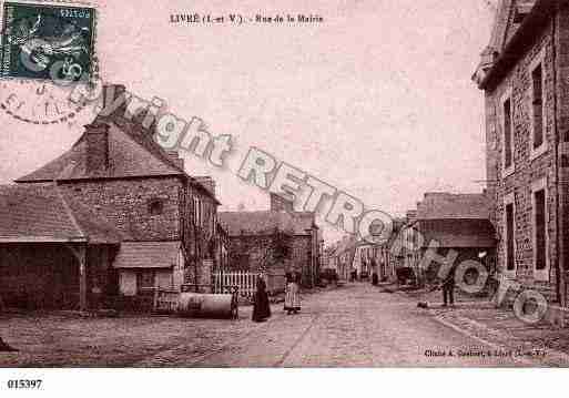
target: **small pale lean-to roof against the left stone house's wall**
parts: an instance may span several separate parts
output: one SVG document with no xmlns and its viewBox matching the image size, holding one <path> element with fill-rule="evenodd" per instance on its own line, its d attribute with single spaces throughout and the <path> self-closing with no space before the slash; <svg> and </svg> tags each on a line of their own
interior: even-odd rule
<svg viewBox="0 0 569 398">
<path fill-rule="evenodd" d="M 114 268 L 172 268 L 177 265 L 180 242 L 123 242 Z"/>
</svg>

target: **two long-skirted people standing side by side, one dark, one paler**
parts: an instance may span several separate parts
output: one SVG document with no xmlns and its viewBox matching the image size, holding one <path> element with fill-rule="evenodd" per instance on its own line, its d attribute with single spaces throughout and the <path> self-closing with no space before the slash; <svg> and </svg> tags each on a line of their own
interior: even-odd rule
<svg viewBox="0 0 569 398">
<path fill-rule="evenodd" d="M 285 275 L 285 303 L 284 310 L 287 315 L 297 314 L 301 310 L 301 275 L 286 273 Z M 265 322 L 271 317 L 271 303 L 266 290 L 266 283 L 262 276 L 257 277 L 257 286 L 253 299 L 254 322 Z"/>
</svg>

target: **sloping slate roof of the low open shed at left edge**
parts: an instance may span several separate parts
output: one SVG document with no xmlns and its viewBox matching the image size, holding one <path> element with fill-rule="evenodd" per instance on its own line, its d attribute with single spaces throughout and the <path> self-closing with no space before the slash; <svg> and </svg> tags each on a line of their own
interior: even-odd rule
<svg viewBox="0 0 569 398">
<path fill-rule="evenodd" d="M 116 244 L 121 235 L 54 185 L 0 185 L 0 242 Z"/>
</svg>

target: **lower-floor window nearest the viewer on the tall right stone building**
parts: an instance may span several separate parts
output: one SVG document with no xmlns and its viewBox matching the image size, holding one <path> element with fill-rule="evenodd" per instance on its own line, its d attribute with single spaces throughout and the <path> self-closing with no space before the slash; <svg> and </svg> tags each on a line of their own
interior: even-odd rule
<svg viewBox="0 0 569 398">
<path fill-rule="evenodd" d="M 547 190 L 546 178 L 531 184 L 534 224 L 534 268 L 539 280 L 549 279 L 548 236 L 547 236 Z"/>
</svg>

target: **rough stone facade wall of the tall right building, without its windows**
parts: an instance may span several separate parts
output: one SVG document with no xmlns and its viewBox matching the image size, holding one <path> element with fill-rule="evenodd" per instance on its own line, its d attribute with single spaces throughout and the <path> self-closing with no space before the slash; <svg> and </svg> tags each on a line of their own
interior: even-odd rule
<svg viewBox="0 0 569 398">
<path fill-rule="evenodd" d="M 545 50 L 542 73 L 543 85 L 543 135 L 547 151 L 531 160 L 531 71 L 530 64 Z M 552 297 L 556 283 L 557 227 L 556 227 L 556 163 L 555 163 L 555 112 L 553 112 L 553 47 L 552 27 L 549 25 L 537 39 L 536 44 L 522 57 L 504 81 L 492 91 L 487 92 L 486 134 L 487 134 L 487 180 L 488 193 L 494 200 L 491 222 L 496 227 L 499 242 L 497 248 L 498 269 L 505 269 L 505 221 L 504 198 L 515 195 L 515 263 L 516 279 L 524 286 L 541 289 Z M 502 172 L 504 129 L 501 124 L 501 98 L 511 90 L 514 164 L 515 172 L 508 176 Z M 547 232 L 549 279 L 536 280 L 534 274 L 534 228 L 531 184 L 547 178 Z"/>
</svg>

